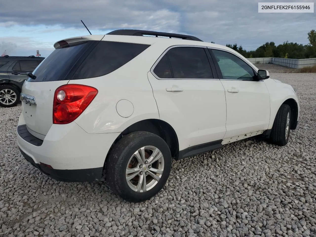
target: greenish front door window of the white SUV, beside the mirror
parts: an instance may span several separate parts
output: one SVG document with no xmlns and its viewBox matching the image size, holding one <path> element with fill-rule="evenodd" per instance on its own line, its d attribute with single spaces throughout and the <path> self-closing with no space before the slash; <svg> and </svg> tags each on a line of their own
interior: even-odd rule
<svg viewBox="0 0 316 237">
<path fill-rule="evenodd" d="M 221 50 L 213 49 L 212 52 L 217 59 L 223 79 L 253 80 L 255 78 L 252 67 L 239 57 Z"/>
</svg>

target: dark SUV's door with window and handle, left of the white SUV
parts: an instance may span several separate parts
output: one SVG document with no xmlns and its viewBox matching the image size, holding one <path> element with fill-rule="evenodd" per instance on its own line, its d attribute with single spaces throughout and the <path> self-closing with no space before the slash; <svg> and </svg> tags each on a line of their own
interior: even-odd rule
<svg viewBox="0 0 316 237">
<path fill-rule="evenodd" d="M 21 85 L 27 79 L 27 72 L 33 72 L 40 64 L 40 60 L 19 60 L 8 68 L 10 80 L 19 82 Z"/>
</svg>

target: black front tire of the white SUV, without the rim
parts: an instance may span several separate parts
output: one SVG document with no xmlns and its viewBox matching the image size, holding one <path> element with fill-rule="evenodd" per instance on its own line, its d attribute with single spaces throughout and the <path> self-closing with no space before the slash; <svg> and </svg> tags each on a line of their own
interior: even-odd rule
<svg viewBox="0 0 316 237">
<path fill-rule="evenodd" d="M 287 124 L 287 116 L 289 114 L 289 132 L 286 137 L 286 124 Z M 271 134 L 270 134 L 270 143 L 285 146 L 290 137 L 290 127 L 291 127 L 291 108 L 289 105 L 281 105 L 278 112 L 276 113 L 276 118 L 274 119 L 274 123 L 272 126 Z"/>
</svg>

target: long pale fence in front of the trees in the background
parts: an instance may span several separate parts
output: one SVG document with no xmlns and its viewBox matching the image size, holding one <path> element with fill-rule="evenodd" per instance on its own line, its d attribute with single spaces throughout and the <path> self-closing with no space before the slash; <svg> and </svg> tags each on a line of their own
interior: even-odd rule
<svg viewBox="0 0 316 237">
<path fill-rule="evenodd" d="M 247 58 L 253 64 L 277 64 L 290 68 L 305 68 L 316 65 L 316 58 L 292 59 L 292 58 Z"/>
</svg>

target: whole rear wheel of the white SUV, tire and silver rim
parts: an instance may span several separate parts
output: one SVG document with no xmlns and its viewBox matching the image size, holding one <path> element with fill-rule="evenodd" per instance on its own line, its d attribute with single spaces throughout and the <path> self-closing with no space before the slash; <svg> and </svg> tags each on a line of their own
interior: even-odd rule
<svg viewBox="0 0 316 237">
<path fill-rule="evenodd" d="M 114 146 L 106 162 L 106 181 L 111 189 L 130 202 L 155 196 L 166 184 L 171 153 L 159 136 L 132 132 Z"/>
</svg>

